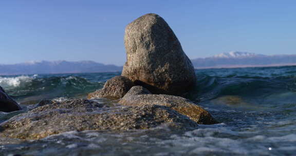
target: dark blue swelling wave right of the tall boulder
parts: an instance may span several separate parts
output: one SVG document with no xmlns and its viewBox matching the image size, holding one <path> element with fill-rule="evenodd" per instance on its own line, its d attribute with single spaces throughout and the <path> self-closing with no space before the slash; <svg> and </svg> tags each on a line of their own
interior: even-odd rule
<svg viewBox="0 0 296 156">
<path fill-rule="evenodd" d="M 190 94 L 195 102 L 214 99 L 229 104 L 252 103 L 265 105 L 294 103 L 296 100 L 296 77 L 292 75 L 275 77 L 197 74 L 196 88 Z"/>
</svg>

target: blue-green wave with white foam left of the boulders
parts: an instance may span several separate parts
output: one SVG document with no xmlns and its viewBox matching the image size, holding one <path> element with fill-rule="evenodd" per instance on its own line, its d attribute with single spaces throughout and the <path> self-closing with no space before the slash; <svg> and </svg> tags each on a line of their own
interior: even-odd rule
<svg viewBox="0 0 296 156">
<path fill-rule="evenodd" d="M 89 92 L 102 88 L 104 83 L 73 75 L 20 75 L 0 77 L 0 85 L 18 103 L 35 104 L 57 97 L 84 98 Z"/>
</svg>

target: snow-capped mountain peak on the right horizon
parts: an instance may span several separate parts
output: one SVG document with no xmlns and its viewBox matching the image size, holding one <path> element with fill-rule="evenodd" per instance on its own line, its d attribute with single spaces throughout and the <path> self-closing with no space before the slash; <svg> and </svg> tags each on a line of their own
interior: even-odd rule
<svg viewBox="0 0 296 156">
<path fill-rule="evenodd" d="M 225 52 L 220 53 L 217 55 L 214 55 L 212 57 L 215 58 L 238 58 L 238 57 L 256 57 L 256 56 L 264 56 L 262 54 L 255 54 L 250 52 L 241 52 L 241 51 L 231 51 L 231 52 Z"/>
</svg>

